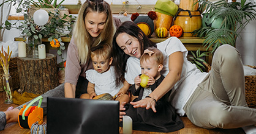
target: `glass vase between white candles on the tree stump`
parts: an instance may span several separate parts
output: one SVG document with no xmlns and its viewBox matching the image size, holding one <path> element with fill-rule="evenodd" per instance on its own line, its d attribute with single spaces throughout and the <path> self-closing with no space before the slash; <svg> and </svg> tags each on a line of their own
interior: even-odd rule
<svg viewBox="0 0 256 134">
<path fill-rule="evenodd" d="M 29 58 L 39 58 L 38 45 L 42 44 L 40 38 L 35 39 L 34 37 L 29 37 L 27 41 L 27 57 Z"/>
</svg>

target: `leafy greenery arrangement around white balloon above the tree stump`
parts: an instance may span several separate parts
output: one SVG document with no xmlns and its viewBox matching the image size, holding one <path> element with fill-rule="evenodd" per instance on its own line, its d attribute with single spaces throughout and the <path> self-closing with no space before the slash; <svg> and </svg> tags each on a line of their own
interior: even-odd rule
<svg viewBox="0 0 256 134">
<path fill-rule="evenodd" d="M 58 9 L 53 9 L 54 12 L 48 12 L 48 15 L 50 16 L 48 23 L 45 24 L 44 26 L 38 26 L 36 23 L 34 23 L 34 19 L 31 13 L 29 13 L 29 9 L 31 8 L 31 5 L 29 4 L 30 2 L 24 1 L 21 4 L 22 6 L 20 6 L 23 7 L 24 9 L 24 22 L 21 22 L 20 26 L 16 26 L 18 21 L 14 24 L 11 24 L 9 21 L 6 21 L 4 24 L 0 25 L 0 29 L 10 30 L 12 28 L 15 28 L 21 30 L 21 34 L 23 34 L 23 39 L 26 40 L 26 38 L 29 38 L 28 41 L 32 41 L 32 43 L 29 43 L 30 46 L 32 46 L 33 43 L 39 44 L 42 38 L 48 38 L 49 41 L 53 41 L 55 44 L 60 44 L 58 46 L 58 54 L 62 55 L 62 50 L 65 49 L 65 46 L 64 43 L 62 43 L 61 41 L 61 37 L 71 36 L 70 32 L 72 31 L 72 26 L 75 21 L 75 18 L 72 18 L 71 15 L 68 16 L 66 14 L 61 16 L 60 11 Z M 55 7 L 58 6 L 55 5 Z M 59 6 L 59 9 L 62 8 L 63 7 Z M 17 13 L 21 12 L 21 10 L 21 8 L 18 8 Z M 56 42 L 54 39 L 58 40 L 58 42 Z"/>
</svg>

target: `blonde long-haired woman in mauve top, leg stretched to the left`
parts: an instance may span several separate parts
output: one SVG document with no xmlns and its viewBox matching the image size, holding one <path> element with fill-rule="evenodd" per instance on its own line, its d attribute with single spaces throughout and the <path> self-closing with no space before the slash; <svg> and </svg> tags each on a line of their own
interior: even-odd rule
<svg viewBox="0 0 256 134">
<path fill-rule="evenodd" d="M 88 83 L 88 80 L 85 79 L 85 71 L 92 69 L 90 49 L 101 41 L 111 44 L 115 25 L 117 27 L 121 24 L 118 20 L 113 21 L 110 5 L 103 0 L 87 0 L 81 6 L 67 49 L 65 84 L 42 94 L 41 107 L 44 114 L 47 112 L 47 97 L 80 97 L 81 94 L 86 93 L 85 83 Z M 18 113 L 23 105 L 10 111 L 0 111 L 0 131 L 4 130 L 7 123 L 18 121 Z"/>
</svg>

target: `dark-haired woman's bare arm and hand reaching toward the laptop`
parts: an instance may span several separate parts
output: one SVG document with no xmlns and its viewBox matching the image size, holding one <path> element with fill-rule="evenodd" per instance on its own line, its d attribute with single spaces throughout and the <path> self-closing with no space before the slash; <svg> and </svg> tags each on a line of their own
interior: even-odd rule
<svg viewBox="0 0 256 134">
<path fill-rule="evenodd" d="M 160 83 L 160 85 L 156 88 L 156 90 L 152 91 L 149 96 L 152 98 L 146 97 L 145 99 L 138 102 L 130 102 L 130 104 L 137 107 L 146 107 L 146 109 L 152 108 L 154 112 L 156 112 L 156 101 L 158 101 L 162 96 L 164 96 L 168 91 L 173 88 L 176 82 L 181 78 L 181 72 L 183 68 L 183 52 L 174 52 L 169 55 L 169 72 L 165 79 Z"/>
</svg>

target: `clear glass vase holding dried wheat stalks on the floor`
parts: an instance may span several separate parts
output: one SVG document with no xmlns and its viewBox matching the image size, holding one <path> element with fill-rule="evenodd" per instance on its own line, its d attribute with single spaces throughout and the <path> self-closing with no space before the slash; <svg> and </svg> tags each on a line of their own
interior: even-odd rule
<svg viewBox="0 0 256 134">
<path fill-rule="evenodd" d="M 12 77 L 9 74 L 4 74 L 2 77 L 2 86 L 4 89 L 4 103 L 5 104 L 12 104 Z"/>
</svg>

